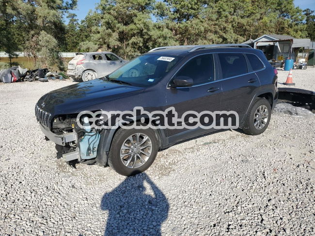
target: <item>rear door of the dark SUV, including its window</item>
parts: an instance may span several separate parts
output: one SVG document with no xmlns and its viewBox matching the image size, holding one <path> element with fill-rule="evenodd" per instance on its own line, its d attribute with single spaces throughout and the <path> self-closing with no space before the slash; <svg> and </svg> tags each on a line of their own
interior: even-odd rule
<svg viewBox="0 0 315 236">
<path fill-rule="evenodd" d="M 218 53 L 218 58 L 222 75 L 221 110 L 236 111 L 241 121 L 260 87 L 259 79 L 249 72 L 244 54 Z"/>
</svg>

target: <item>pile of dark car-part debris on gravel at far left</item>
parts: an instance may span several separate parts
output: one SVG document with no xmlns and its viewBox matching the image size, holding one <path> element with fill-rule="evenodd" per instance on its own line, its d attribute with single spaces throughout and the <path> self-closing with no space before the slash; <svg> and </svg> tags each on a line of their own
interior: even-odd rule
<svg viewBox="0 0 315 236">
<path fill-rule="evenodd" d="M 49 72 L 47 68 L 28 70 L 20 66 L 13 66 L 8 69 L 0 70 L 0 82 L 13 83 L 19 81 L 34 81 L 47 82 L 48 79 L 68 79 L 62 72 Z"/>
</svg>

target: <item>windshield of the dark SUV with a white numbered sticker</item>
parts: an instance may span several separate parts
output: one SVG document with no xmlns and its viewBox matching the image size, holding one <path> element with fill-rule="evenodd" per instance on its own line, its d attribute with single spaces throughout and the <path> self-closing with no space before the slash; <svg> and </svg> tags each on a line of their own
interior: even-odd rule
<svg viewBox="0 0 315 236">
<path fill-rule="evenodd" d="M 162 79 L 179 61 L 181 57 L 148 54 L 135 58 L 107 79 L 139 87 L 149 87 Z"/>
</svg>

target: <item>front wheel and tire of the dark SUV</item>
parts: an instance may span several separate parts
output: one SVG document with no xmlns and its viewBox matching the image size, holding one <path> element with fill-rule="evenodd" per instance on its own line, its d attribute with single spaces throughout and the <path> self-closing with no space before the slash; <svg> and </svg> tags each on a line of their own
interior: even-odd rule
<svg viewBox="0 0 315 236">
<path fill-rule="evenodd" d="M 139 145 L 138 149 L 136 149 L 137 147 L 134 146 L 134 144 L 136 143 L 137 133 L 140 134 L 138 138 L 138 144 L 141 144 L 141 142 L 143 142 L 145 136 L 148 137 L 148 139 L 142 145 L 140 145 L 140 147 L 145 147 L 146 145 L 148 145 L 148 147 L 142 150 L 144 151 L 144 153 L 149 155 L 144 155 L 142 153 L 137 154 L 139 153 Z M 132 136 L 132 143 L 129 139 L 130 136 Z M 126 147 L 127 149 L 125 149 Z M 142 173 L 152 165 L 157 156 L 157 149 L 157 136 L 152 129 L 120 128 L 114 135 L 114 138 L 111 142 L 108 164 L 117 173 L 125 176 Z M 135 154 L 132 154 L 132 151 Z M 128 155 L 127 153 L 131 154 Z M 141 158 L 139 158 L 138 155 L 142 158 L 142 160 Z"/>
</svg>

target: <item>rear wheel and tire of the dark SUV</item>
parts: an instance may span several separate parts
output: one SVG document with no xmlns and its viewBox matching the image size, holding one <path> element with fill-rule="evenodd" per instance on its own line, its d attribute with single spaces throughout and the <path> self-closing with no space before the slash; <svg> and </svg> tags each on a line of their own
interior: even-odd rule
<svg viewBox="0 0 315 236">
<path fill-rule="evenodd" d="M 268 114 L 267 112 L 268 111 Z M 270 122 L 271 106 L 266 98 L 257 98 L 252 104 L 243 126 L 243 131 L 249 135 L 263 133 Z"/>
</svg>

